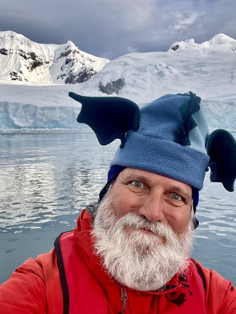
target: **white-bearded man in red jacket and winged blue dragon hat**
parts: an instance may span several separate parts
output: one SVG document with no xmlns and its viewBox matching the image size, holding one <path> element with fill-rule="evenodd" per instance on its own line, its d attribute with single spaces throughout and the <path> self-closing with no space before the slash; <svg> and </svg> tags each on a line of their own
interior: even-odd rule
<svg viewBox="0 0 236 314">
<path fill-rule="evenodd" d="M 236 313 L 232 283 L 189 257 L 206 169 L 233 191 L 233 136 L 209 134 L 192 92 L 141 110 L 118 97 L 69 95 L 82 103 L 78 122 L 101 144 L 121 146 L 76 229 L 2 284 L 0 313 Z"/>
</svg>

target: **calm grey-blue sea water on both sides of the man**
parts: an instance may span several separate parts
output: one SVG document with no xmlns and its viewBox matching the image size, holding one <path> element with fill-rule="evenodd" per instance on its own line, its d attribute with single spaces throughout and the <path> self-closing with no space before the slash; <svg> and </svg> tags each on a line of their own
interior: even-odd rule
<svg viewBox="0 0 236 314">
<path fill-rule="evenodd" d="M 74 229 L 81 209 L 97 200 L 118 145 L 101 146 L 79 131 L 0 134 L 0 284 Z M 208 177 L 192 256 L 236 285 L 236 193 Z"/>
</svg>

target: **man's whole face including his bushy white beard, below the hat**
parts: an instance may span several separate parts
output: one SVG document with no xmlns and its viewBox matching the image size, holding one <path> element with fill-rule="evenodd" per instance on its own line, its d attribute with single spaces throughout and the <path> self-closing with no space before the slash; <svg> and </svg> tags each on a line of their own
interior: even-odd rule
<svg viewBox="0 0 236 314">
<path fill-rule="evenodd" d="M 95 252 L 119 283 L 137 290 L 162 287 L 189 263 L 192 189 L 148 171 L 126 168 L 98 206 Z"/>
</svg>

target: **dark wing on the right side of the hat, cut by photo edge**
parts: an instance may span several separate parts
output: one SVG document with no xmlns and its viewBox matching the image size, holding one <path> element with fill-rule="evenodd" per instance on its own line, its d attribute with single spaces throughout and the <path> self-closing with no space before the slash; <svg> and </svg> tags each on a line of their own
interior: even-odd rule
<svg viewBox="0 0 236 314">
<path fill-rule="evenodd" d="M 229 192 L 234 191 L 236 179 L 236 140 L 223 129 L 213 131 L 206 140 L 210 156 L 211 182 L 222 182 Z"/>
</svg>

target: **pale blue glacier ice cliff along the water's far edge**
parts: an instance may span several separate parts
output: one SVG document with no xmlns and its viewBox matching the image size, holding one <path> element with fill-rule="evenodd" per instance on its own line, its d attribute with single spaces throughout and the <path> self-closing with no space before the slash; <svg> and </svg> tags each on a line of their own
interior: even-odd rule
<svg viewBox="0 0 236 314">
<path fill-rule="evenodd" d="M 202 100 L 209 128 L 231 128 L 236 130 L 235 103 L 218 100 Z M 2 101 L 0 102 L 0 129 L 20 128 L 89 128 L 78 123 L 79 107 L 34 106 Z"/>
</svg>

